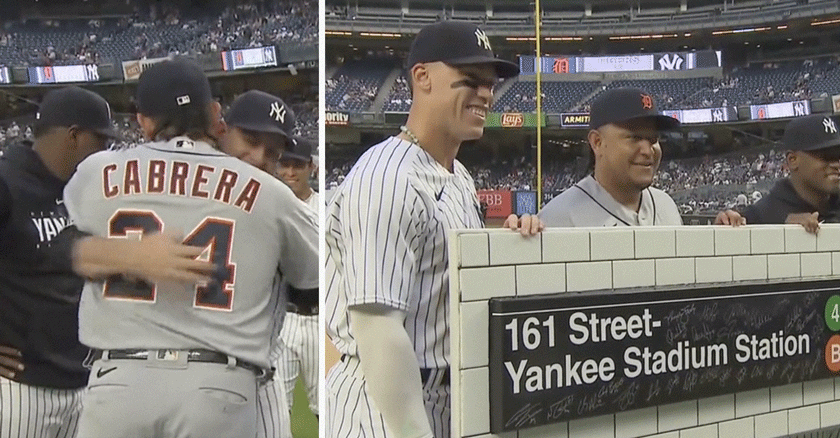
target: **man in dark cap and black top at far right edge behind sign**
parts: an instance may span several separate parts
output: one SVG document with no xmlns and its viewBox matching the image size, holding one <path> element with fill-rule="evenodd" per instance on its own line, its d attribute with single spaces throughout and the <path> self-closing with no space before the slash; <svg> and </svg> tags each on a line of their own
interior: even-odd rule
<svg viewBox="0 0 840 438">
<path fill-rule="evenodd" d="M 798 223 L 816 234 L 822 222 L 840 222 L 840 133 L 824 114 L 793 119 L 782 145 L 790 174 L 748 206 L 748 224 Z"/>
</svg>

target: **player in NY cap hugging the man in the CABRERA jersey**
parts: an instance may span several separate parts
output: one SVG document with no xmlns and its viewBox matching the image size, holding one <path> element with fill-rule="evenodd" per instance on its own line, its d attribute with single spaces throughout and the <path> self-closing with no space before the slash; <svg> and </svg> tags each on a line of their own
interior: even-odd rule
<svg viewBox="0 0 840 438">
<path fill-rule="evenodd" d="M 251 90 L 241 94 L 231 103 L 230 110 L 225 116 L 225 123 L 228 129 L 221 142 L 222 151 L 273 175 L 280 154 L 293 142 L 288 134 L 295 126 L 295 115 L 291 109 L 276 96 Z M 317 242 L 313 244 L 317 246 Z M 317 266 L 313 266 L 312 269 L 317 270 Z M 308 291 L 288 286 L 285 282 L 275 282 L 274 288 L 280 291 L 280 296 L 284 299 L 283 306 L 287 306 L 285 304 L 287 294 L 314 297 L 317 302 L 317 293 L 308 293 Z M 288 321 L 288 318 L 286 315 L 284 319 Z M 280 327 L 285 324 L 288 322 L 277 321 L 273 339 L 279 339 Z M 273 343 L 272 364 L 282 365 L 283 361 L 279 358 L 284 349 L 282 342 Z M 287 396 L 284 390 L 284 377 L 282 377 L 284 374 L 283 367 L 277 366 L 274 378 L 259 387 L 258 438 L 292 436 L 289 417 L 291 395 Z"/>
</svg>

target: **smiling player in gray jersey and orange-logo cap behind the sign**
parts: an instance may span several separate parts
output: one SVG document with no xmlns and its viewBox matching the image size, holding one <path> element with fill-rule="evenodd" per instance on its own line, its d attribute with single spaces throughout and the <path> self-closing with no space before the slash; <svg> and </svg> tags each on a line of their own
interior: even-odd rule
<svg viewBox="0 0 840 438">
<path fill-rule="evenodd" d="M 589 115 L 593 173 L 549 201 L 539 217 L 548 227 L 682 225 L 674 200 L 651 187 L 662 159 L 660 133 L 679 126 L 657 111 L 644 90 L 604 91 Z M 737 226 L 743 220 L 726 211 L 715 223 Z"/>
</svg>

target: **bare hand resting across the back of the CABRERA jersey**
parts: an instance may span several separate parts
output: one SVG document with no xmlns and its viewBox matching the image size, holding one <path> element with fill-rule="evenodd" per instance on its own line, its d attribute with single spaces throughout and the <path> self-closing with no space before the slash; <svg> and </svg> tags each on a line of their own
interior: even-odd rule
<svg viewBox="0 0 840 438">
<path fill-rule="evenodd" d="M 204 248 L 185 245 L 181 236 L 150 234 L 138 242 L 136 264 L 129 276 L 150 283 L 199 283 L 214 280 L 216 265 L 196 260 Z"/>
</svg>

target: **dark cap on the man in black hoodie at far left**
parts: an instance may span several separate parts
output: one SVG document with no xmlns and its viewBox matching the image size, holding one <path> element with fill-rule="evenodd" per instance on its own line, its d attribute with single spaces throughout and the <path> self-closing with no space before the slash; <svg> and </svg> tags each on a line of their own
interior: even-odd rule
<svg viewBox="0 0 840 438">
<path fill-rule="evenodd" d="M 110 138 L 120 138 L 111 125 L 111 107 L 102 96 L 79 87 L 50 91 L 35 114 L 35 127 L 78 126 Z"/>
</svg>

